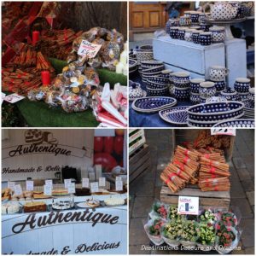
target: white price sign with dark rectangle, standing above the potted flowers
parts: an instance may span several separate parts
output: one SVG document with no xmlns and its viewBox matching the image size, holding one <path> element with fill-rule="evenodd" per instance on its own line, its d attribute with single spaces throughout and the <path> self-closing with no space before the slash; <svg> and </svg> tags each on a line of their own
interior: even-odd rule
<svg viewBox="0 0 256 256">
<path fill-rule="evenodd" d="M 198 215 L 199 210 L 199 197 L 195 196 L 179 196 L 177 213 Z"/>
</svg>

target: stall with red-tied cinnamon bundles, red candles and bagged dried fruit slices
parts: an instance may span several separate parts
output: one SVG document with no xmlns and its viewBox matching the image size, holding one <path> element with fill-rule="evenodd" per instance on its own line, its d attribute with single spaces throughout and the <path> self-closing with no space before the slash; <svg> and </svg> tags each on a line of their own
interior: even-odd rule
<svg viewBox="0 0 256 256">
<path fill-rule="evenodd" d="M 113 9 L 123 15 L 124 4 L 114 4 Z M 81 5 L 84 15 L 94 15 L 96 5 L 111 9 L 108 3 L 91 5 Z M 67 20 L 61 20 L 66 7 L 67 3 L 48 2 L 4 4 L 3 110 L 12 108 L 7 102 L 15 104 L 30 126 L 125 127 L 126 35 L 115 28 L 124 30 L 119 22 L 125 21 L 113 27 L 106 17 L 94 27 L 67 28 Z M 61 118 L 55 121 L 58 114 Z"/>
</svg>

